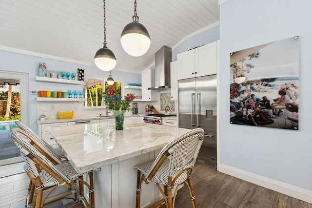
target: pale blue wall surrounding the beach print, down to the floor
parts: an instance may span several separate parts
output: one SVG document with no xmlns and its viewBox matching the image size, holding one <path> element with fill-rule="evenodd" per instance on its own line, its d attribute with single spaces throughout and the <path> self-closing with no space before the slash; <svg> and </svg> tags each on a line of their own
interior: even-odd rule
<svg viewBox="0 0 312 208">
<path fill-rule="evenodd" d="M 222 95 L 218 170 L 310 203 L 311 8 L 311 0 L 229 0 L 221 4 L 218 83 Z M 228 111 L 230 52 L 296 35 L 299 35 L 299 130 L 231 125 Z"/>
</svg>

